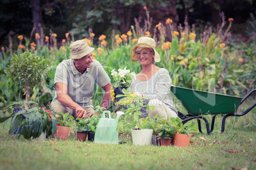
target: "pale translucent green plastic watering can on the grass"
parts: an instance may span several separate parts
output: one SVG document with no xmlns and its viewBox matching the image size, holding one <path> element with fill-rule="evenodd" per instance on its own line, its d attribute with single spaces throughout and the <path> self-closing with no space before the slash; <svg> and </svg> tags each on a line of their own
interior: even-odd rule
<svg viewBox="0 0 256 170">
<path fill-rule="evenodd" d="M 108 118 L 105 117 L 105 114 L 108 113 Z M 105 110 L 101 115 L 101 119 L 97 124 L 94 142 L 95 143 L 118 143 L 118 131 L 117 123 L 120 115 L 123 115 L 124 112 L 117 112 L 117 117 L 115 119 L 111 118 L 110 111 Z"/>
</svg>

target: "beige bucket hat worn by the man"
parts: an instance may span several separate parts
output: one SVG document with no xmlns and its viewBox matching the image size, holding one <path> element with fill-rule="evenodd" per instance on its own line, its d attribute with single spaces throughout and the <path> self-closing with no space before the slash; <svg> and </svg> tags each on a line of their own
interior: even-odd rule
<svg viewBox="0 0 256 170">
<path fill-rule="evenodd" d="M 94 48 L 90 47 L 84 39 L 73 42 L 69 49 L 71 51 L 71 59 L 80 59 L 94 51 Z"/>
</svg>

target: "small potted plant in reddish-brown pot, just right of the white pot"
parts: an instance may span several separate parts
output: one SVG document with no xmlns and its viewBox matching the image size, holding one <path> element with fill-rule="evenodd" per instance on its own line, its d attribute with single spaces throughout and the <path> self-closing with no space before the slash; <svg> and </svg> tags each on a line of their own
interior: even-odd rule
<svg viewBox="0 0 256 170">
<path fill-rule="evenodd" d="M 160 140 L 159 144 L 164 146 L 171 145 L 171 140 L 176 133 L 177 129 L 167 119 L 157 120 L 157 139 Z"/>
</svg>

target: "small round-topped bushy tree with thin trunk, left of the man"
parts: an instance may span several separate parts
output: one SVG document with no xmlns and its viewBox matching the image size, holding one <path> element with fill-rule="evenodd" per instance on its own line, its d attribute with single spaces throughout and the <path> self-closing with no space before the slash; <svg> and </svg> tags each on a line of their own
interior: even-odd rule
<svg viewBox="0 0 256 170">
<path fill-rule="evenodd" d="M 14 54 L 15 55 L 15 54 Z M 17 86 L 25 91 L 25 101 L 30 100 L 32 88 L 42 88 L 42 82 L 50 70 L 49 63 L 43 56 L 37 56 L 36 51 L 29 52 L 29 49 L 22 54 L 11 58 L 10 66 L 6 74 Z M 27 106 L 25 106 L 27 109 Z"/>
</svg>

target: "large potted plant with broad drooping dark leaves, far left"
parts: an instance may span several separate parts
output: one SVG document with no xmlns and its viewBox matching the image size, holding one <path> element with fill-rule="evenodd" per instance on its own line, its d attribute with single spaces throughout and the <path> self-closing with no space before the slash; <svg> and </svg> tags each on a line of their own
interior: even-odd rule
<svg viewBox="0 0 256 170">
<path fill-rule="evenodd" d="M 20 134 L 16 133 L 16 138 L 20 138 L 22 135 L 27 140 L 31 138 L 45 140 L 46 135 L 50 136 L 55 134 L 57 130 L 57 119 L 49 110 L 39 108 L 38 103 L 34 101 L 13 102 L 13 104 L 8 107 L 13 105 L 27 105 L 30 108 L 27 110 L 19 110 L 17 113 L 0 118 L 0 122 L 8 121 L 8 119 L 11 118 L 10 134 L 14 134 L 15 131 L 20 131 Z M 22 117 L 25 117 L 25 119 L 22 119 Z"/>
</svg>

